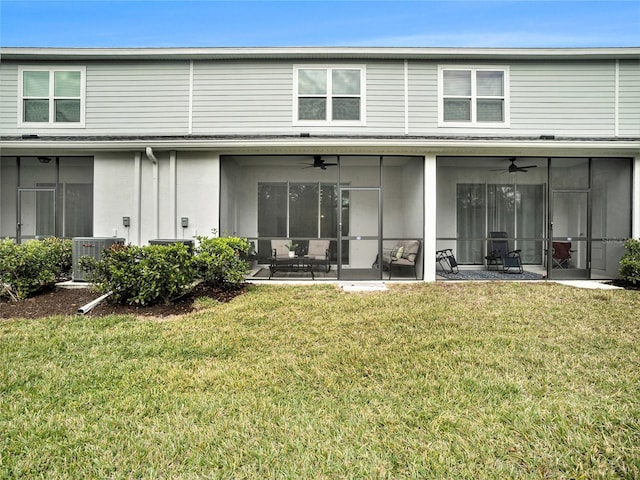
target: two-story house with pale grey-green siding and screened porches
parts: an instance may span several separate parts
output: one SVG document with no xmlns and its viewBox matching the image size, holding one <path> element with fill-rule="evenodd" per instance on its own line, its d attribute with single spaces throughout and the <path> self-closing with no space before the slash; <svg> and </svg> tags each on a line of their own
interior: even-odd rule
<svg viewBox="0 0 640 480">
<path fill-rule="evenodd" d="M 2 48 L 0 236 L 420 240 L 614 278 L 640 237 L 640 48 Z M 554 242 L 570 245 L 557 265 Z M 410 272 L 413 275 L 413 272 Z"/>
</svg>

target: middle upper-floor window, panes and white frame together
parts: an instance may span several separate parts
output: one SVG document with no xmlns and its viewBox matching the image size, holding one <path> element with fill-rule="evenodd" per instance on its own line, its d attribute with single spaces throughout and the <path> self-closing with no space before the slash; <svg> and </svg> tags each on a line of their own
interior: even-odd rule
<svg viewBox="0 0 640 480">
<path fill-rule="evenodd" d="M 364 123 L 364 67 L 297 67 L 294 123 Z"/>
</svg>

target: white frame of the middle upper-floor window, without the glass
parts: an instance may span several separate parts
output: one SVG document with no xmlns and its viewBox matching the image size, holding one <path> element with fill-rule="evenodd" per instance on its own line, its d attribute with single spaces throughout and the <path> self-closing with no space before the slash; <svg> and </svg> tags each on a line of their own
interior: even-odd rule
<svg viewBox="0 0 640 480">
<path fill-rule="evenodd" d="M 327 94 L 318 95 L 327 99 L 327 116 L 324 120 L 300 120 L 298 119 L 298 72 L 300 70 L 325 70 L 327 74 Z M 354 98 L 355 95 L 333 95 L 333 70 L 359 70 L 360 71 L 360 119 L 359 120 L 333 120 L 333 98 L 341 96 Z M 297 126 L 364 126 L 366 125 L 366 67 L 365 65 L 294 65 L 293 67 L 293 125 Z M 303 95 L 307 96 L 307 95 Z"/>
</svg>

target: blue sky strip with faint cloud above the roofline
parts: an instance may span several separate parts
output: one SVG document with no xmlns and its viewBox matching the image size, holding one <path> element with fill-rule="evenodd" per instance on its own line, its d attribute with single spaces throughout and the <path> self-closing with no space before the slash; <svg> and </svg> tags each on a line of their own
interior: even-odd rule
<svg viewBox="0 0 640 480">
<path fill-rule="evenodd" d="M 640 46 L 640 0 L 0 0 L 4 47 Z"/>
</svg>

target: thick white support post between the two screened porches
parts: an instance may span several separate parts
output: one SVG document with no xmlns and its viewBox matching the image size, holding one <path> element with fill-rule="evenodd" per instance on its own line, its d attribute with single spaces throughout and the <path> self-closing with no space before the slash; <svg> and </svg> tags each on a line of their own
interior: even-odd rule
<svg viewBox="0 0 640 480">
<path fill-rule="evenodd" d="M 436 156 L 424 157 L 424 248 L 422 250 L 425 282 L 436 280 Z"/>
</svg>

